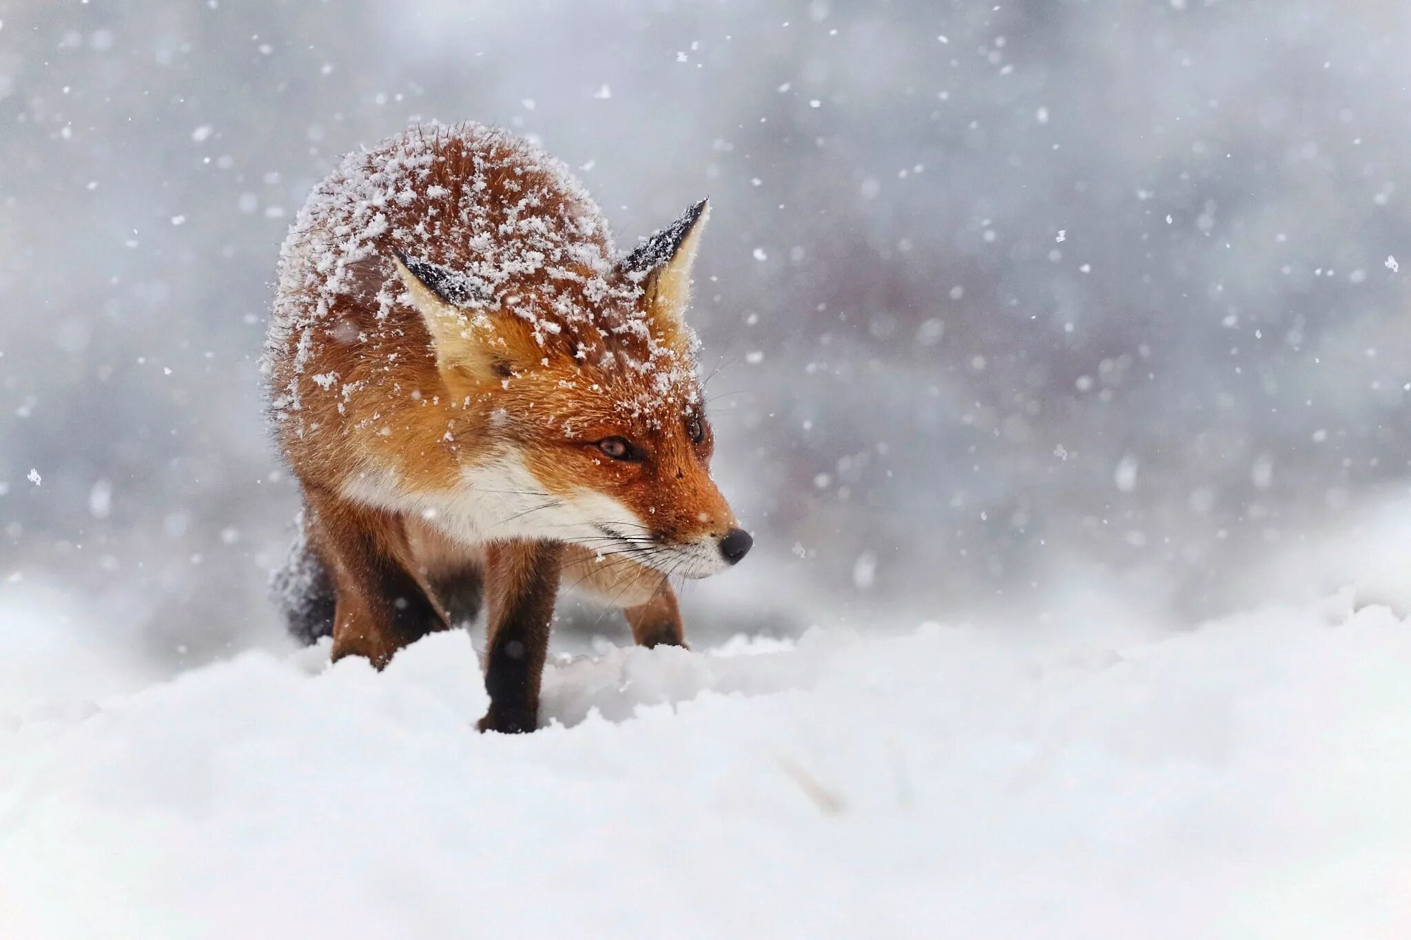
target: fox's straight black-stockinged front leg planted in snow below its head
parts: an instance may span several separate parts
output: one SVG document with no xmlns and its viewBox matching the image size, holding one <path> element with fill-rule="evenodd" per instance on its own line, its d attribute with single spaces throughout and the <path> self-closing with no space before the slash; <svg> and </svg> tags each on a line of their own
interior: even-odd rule
<svg viewBox="0 0 1411 940">
<path fill-rule="evenodd" d="M 485 692 L 481 731 L 532 731 L 549 653 L 549 621 L 559 593 L 563 547 L 512 541 L 485 550 Z"/>
</svg>

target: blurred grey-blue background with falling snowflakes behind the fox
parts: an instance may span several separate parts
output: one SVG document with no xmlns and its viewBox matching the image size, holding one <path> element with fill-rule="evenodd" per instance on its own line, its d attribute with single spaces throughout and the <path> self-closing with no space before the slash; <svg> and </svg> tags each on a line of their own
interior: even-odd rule
<svg viewBox="0 0 1411 940">
<path fill-rule="evenodd" d="M 282 643 L 279 241 L 463 118 L 619 245 L 713 200 L 758 547 L 691 636 L 1336 588 L 1411 530 L 1408 41 L 1390 0 L 0 0 L 0 599 L 162 669 Z"/>
</svg>

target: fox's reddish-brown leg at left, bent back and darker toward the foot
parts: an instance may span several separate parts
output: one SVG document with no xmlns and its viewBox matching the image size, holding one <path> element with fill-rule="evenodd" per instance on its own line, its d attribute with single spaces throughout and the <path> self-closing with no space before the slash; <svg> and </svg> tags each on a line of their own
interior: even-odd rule
<svg viewBox="0 0 1411 940">
<path fill-rule="evenodd" d="M 333 578 L 333 658 L 361 655 L 378 669 L 446 617 L 409 567 L 402 520 L 327 492 L 306 490 L 319 550 Z"/>
</svg>

